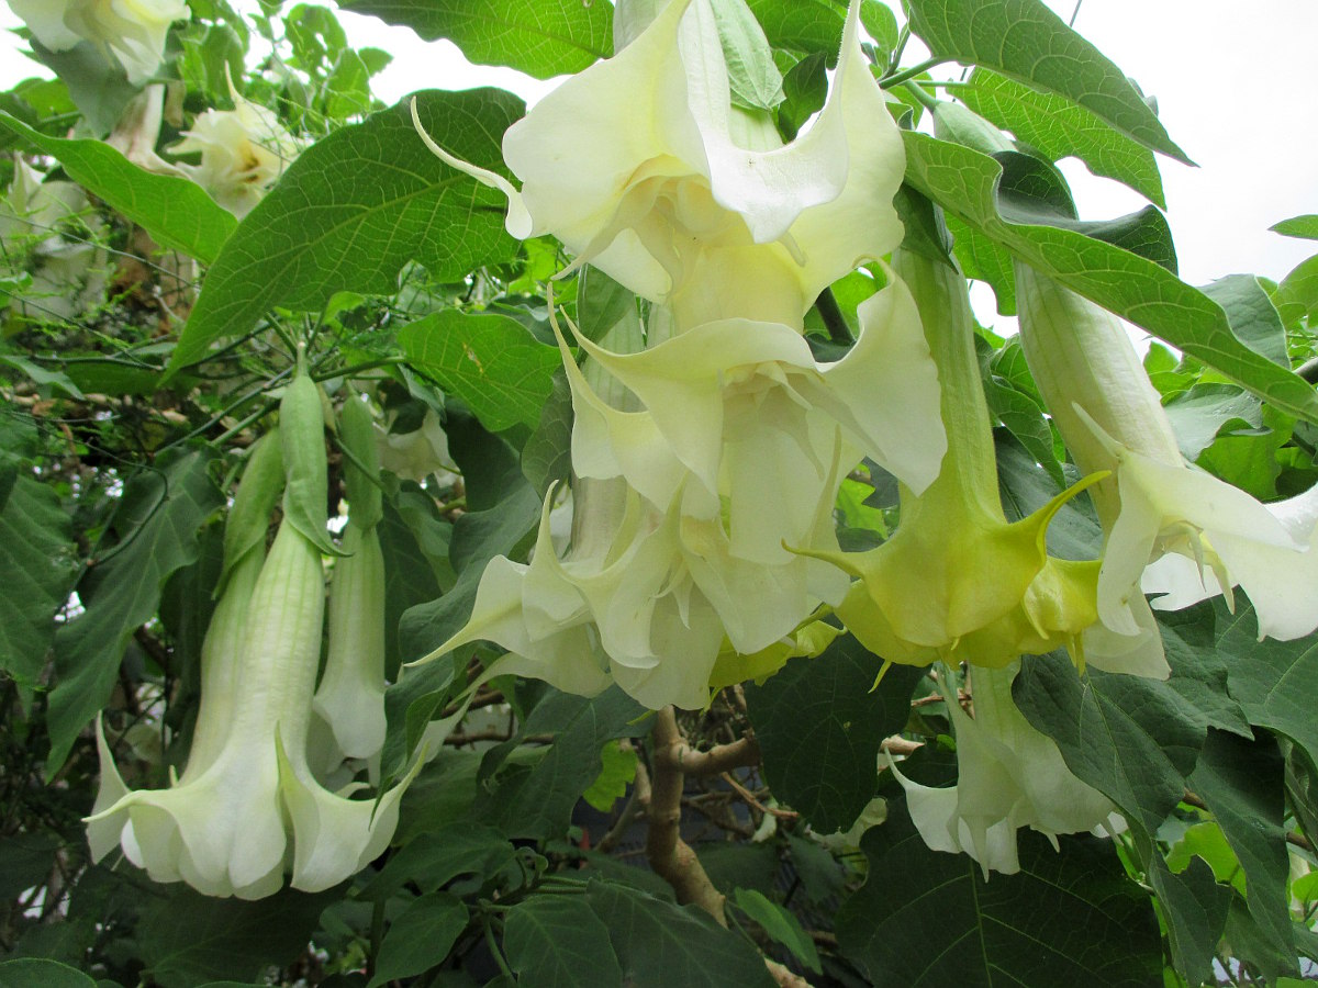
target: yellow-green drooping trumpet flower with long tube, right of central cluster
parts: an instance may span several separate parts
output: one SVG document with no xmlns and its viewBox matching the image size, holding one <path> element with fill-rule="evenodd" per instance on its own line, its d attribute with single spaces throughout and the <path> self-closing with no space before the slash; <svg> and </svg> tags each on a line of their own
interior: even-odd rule
<svg viewBox="0 0 1318 988">
<path fill-rule="evenodd" d="M 892 263 L 916 294 L 938 368 L 948 454 L 928 489 L 902 486 L 900 522 L 882 545 L 807 552 L 859 577 L 837 614 L 887 661 L 1002 667 L 1061 645 L 1081 657 L 1081 632 L 1097 619 L 1098 564 L 1052 559 L 1044 539 L 1056 511 L 1089 481 L 1007 522 L 965 278 L 950 262 L 907 250 Z"/>
</svg>

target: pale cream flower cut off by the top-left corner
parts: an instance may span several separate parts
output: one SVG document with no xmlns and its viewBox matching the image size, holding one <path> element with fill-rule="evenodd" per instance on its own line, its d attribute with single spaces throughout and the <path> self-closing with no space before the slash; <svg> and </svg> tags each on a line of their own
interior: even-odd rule
<svg viewBox="0 0 1318 988">
<path fill-rule="evenodd" d="M 174 21 L 191 16 L 185 0 L 9 0 L 9 7 L 51 51 L 90 41 L 141 86 L 161 63 Z"/>
</svg>

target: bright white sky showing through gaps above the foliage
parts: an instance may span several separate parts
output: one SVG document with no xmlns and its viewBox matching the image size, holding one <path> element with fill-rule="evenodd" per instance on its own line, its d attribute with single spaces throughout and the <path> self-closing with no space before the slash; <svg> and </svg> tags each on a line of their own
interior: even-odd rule
<svg viewBox="0 0 1318 988">
<path fill-rule="evenodd" d="M 1075 0 L 1045 0 L 1064 18 Z M 894 4 L 895 5 L 895 4 Z M 237 0 L 235 7 L 254 7 Z M 340 13 L 355 45 L 394 55 L 377 76 L 393 101 L 418 88 L 503 86 L 534 99 L 550 84 L 472 66 L 449 42 Z M 0 4 L 0 28 L 17 24 Z M 1318 213 L 1318 3 L 1314 0 L 1082 0 L 1075 29 L 1159 100 L 1172 138 L 1198 162 L 1162 158 L 1168 217 L 1181 275 L 1201 285 L 1251 271 L 1280 279 L 1318 244 L 1269 233 L 1289 216 Z M 0 32 L 0 88 L 43 72 Z M 907 61 L 917 58 L 912 51 Z M 1062 163 L 1085 219 L 1139 209 L 1123 186 Z"/>
</svg>

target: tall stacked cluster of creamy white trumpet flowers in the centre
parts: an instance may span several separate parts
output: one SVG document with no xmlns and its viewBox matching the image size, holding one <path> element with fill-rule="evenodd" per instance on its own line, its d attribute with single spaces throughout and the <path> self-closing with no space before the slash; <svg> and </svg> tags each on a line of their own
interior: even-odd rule
<svg viewBox="0 0 1318 988">
<path fill-rule="evenodd" d="M 788 145 L 733 108 L 708 0 L 673 0 L 507 130 L 521 191 L 435 150 L 507 194 L 510 232 L 552 233 L 573 267 L 654 303 L 643 328 L 630 314 L 602 344 L 559 328 L 572 545 L 554 552 L 546 510 L 532 561 L 492 561 L 471 622 L 436 655 L 485 639 L 564 689 L 616 681 L 654 707 L 702 706 L 725 636 L 768 648 L 846 593 L 841 570 L 805 555 L 837 551 L 845 472 L 870 457 L 923 491 L 946 448 L 937 369 L 892 271 L 842 360 L 816 361 L 801 335 L 824 287 L 902 236 L 902 142 L 858 4 L 828 101 Z"/>
</svg>

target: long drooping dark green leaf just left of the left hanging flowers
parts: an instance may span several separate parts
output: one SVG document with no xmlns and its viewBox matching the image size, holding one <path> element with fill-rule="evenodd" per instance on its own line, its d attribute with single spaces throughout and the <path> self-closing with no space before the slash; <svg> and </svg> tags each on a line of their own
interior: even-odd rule
<svg viewBox="0 0 1318 988">
<path fill-rule="evenodd" d="M 156 614 L 169 576 L 196 561 L 196 530 L 223 503 L 204 451 L 162 458 L 125 485 L 115 514 L 120 543 L 78 584 L 86 611 L 55 632 L 47 779 L 105 706 L 129 636 Z"/>
</svg>

